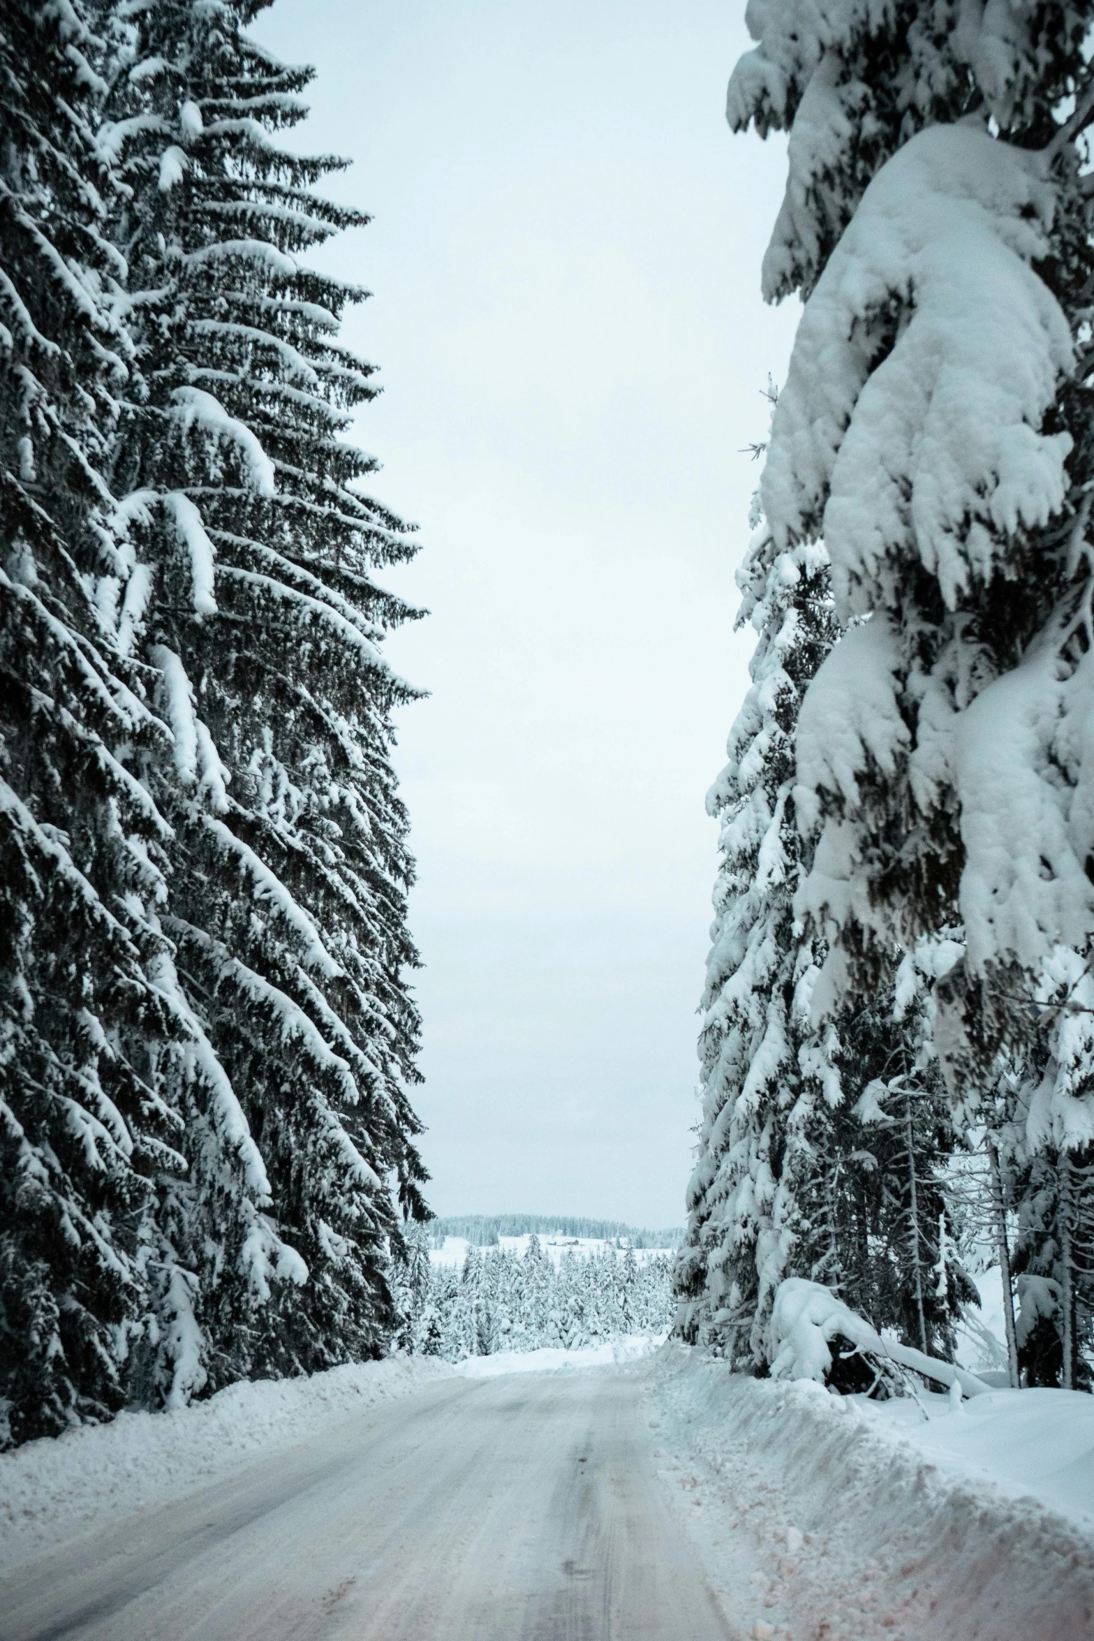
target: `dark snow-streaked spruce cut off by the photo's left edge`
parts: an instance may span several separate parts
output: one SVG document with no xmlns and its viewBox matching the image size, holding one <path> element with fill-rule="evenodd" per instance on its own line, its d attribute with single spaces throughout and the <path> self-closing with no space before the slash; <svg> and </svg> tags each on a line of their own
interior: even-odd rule
<svg viewBox="0 0 1094 1641">
<path fill-rule="evenodd" d="M 0 16 L 0 1447 L 125 1400 L 149 1175 L 180 1163 L 156 1054 L 184 1022 L 149 978 L 169 830 L 118 758 L 161 732 L 103 619 L 131 350 L 90 23 Z"/>
</svg>

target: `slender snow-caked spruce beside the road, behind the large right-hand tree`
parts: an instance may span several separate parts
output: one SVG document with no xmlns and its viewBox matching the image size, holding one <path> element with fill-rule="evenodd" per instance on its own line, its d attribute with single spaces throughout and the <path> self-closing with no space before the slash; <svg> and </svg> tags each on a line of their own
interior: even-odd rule
<svg viewBox="0 0 1094 1641">
<path fill-rule="evenodd" d="M 843 1098 L 835 1032 L 815 1032 L 809 1019 L 823 953 L 794 921 L 802 868 L 794 725 L 833 625 L 827 560 L 812 543 L 779 550 L 759 525 L 738 584 L 738 625 L 751 620 L 759 638 L 730 763 L 707 798 L 722 820 L 723 863 L 702 1001 L 702 1122 L 676 1285 L 684 1337 L 759 1359 L 800 1232 L 797 1190 L 817 1167 L 818 1108 Z"/>
</svg>

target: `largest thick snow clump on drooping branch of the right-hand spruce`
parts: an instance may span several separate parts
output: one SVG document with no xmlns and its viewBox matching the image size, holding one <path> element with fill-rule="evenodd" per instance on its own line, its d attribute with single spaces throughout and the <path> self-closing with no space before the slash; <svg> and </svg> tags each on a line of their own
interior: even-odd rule
<svg viewBox="0 0 1094 1641">
<path fill-rule="evenodd" d="M 877 172 L 805 305 L 761 481 L 779 545 L 823 533 L 841 619 L 919 556 L 950 607 L 1001 537 L 1064 496 L 1066 433 L 1042 418 L 1073 366 L 1046 254 L 1043 162 L 932 126 Z M 879 354 L 881 363 L 877 363 Z"/>
</svg>

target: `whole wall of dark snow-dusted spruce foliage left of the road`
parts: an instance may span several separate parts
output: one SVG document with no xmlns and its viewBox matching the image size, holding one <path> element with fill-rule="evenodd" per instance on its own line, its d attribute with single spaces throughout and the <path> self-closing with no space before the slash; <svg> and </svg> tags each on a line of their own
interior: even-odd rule
<svg viewBox="0 0 1094 1641">
<path fill-rule="evenodd" d="M 0 1444 L 382 1352 L 426 1211 L 412 543 L 258 10 L 0 18 Z"/>
</svg>

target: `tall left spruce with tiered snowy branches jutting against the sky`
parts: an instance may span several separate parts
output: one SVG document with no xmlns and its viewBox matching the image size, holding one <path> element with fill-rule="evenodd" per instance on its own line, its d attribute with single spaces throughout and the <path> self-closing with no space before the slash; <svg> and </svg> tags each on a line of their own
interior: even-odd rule
<svg viewBox="0 0 1094 1641">
<path fill-rule="evenodd" d="M 207 1388 L 379 1352 L 389 1175 L 425 1211 L 390 766 L 390 714 L 413 693 L 377 648 L 413 612 L 372 581 L 412 543 L 341 438 L 374 392 L 336 340 L 364 292 L 305 261 L 366 218 L 313 192 L 340 161 L 279 144 L 310 71 L 248 38 L 259 10 L 123 8 L 100 136 L 136 343 L 112 482 L 138 569 L 116 642 L 154 668 L 174 737 L 141 775 L 174 829 L 161 922 L 208 1045 L 161 1227 L 166 1264 L 197 1283 Z M 218 1090 L 261 1150 L 262 1213 L 208 1145 Z"/>
</svg>

